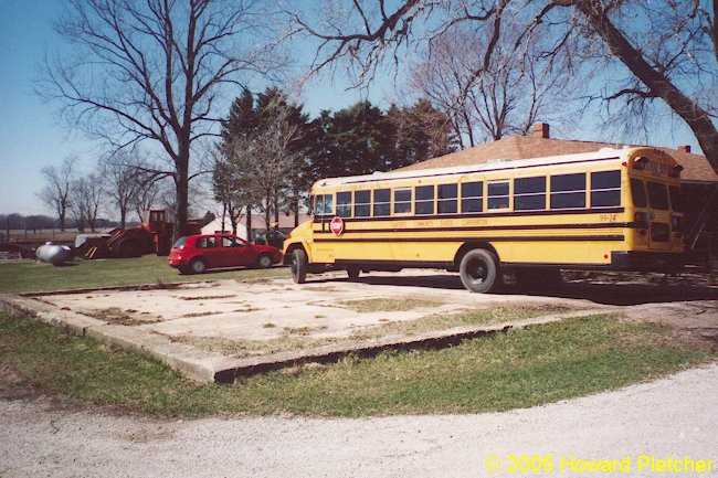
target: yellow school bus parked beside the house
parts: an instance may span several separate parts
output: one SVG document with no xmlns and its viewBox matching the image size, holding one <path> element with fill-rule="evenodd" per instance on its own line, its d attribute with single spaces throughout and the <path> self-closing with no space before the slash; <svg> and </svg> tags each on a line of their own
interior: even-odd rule
<svg viewBox="0 0 718 478">
<path fill-rule="evenodd" d="M 330 178 L 312 220 L 284 243 L 307 273 L 442 268 L 486 293 L 506 277 L 561 268 L 676 272 L 683 266 L 680 170 L 654 148 Z"/>
</svg>

